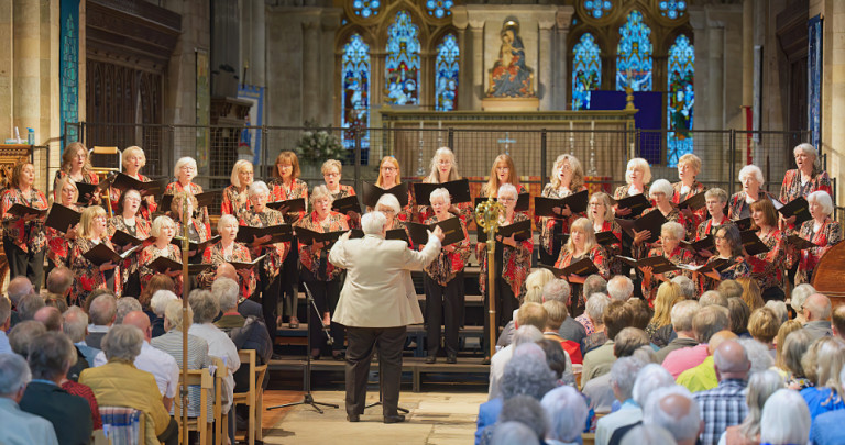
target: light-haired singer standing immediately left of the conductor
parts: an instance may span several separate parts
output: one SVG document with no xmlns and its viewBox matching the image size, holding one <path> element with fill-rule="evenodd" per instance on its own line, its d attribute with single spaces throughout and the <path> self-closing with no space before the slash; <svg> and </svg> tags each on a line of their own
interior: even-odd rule
<svg viewBox="0 0 845 445">
<path fill-rule="evenodd" d="M 329 162 L 327 160 L 327 163 Z M 337 170 L 337 166 L 333 166 L 333 164 L 331 166 L 330 170 L 326 170 L 323 165 L 323 174 Z M 348 231 L 350 229 L 349 219 L 347 215 L 331 210 L 333 201 L 334 196 L 328 187 L 315 187 L 311 190 L 312 211 L 296 225 L 318 233 Z M 334 267 L 334 265 L 329 263 L 330 247 L 328 243 L 322 242 L 315 242 L 312 244 L 300 242 L 299 262 L 303 265 L 300 277 L 308 285 L 311 294 L 314 294 L 314 301 L 322 314 L 322 324 L 327 327 L 331 326 L 333 341 L 331 345 L 332 356 L 336 360 L 342 360 L 343 329 L 339 324 L 331 322 L 331 315 L 334 314 L 334 308 L 337 308 L 338 299 L 340 298 L 340 274 L 343 269 Z M 312 358 L 317 359 L 320 357 L 320 351 L 326 343 L 326 335 L 322 334 L 320 321 L 310 308 L 308 310 L 308 335 L 311 337 L 311 351 L 309 354 L 311 354 Z"/>
</svg>

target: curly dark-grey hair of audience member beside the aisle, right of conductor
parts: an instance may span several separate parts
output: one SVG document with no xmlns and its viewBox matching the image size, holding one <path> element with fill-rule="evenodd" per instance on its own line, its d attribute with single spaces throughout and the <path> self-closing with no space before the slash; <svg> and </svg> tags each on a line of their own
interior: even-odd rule
<svg viewBox="0 0 845 445">
<path fill-rule="evenodd" d="M 511 359 L 505 365 L 500 389 L 504 400 L 517 394 L 540 400 L 546 392 L 555 388 L 555 381 L 557 376 L 546 363 L 545 354 L 544 357 L 526 354 L 519 359 Z"/>
</svg>

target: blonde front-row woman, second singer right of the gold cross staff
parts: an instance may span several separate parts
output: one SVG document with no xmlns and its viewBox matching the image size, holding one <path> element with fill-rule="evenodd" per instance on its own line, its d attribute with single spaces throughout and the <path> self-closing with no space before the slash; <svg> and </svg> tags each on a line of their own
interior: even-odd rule
<svg viewBox="0 0 845 445">
<path fill-rule="evenodd" d="M 586 218 L 580 218 L 572 223 L 572 230 L 569 233 L 569 240 L 567 244 L 560 249 L 558 260 L 555 263 L 555 268 L 562 269 L 571 264 L 588 258 L 599 269 L 599 275 L 605 280 L 611 277 L 611 270 L 607 267 L 607 254 L 604 252 L 599 243 L 595 241 L 595 232 L 593 231 L 593 223 Z M 562 277 L 572 286 L 572 298 L 570 300 L 569 314 L 573 318 L 581 315 L 584 312 L 584 304 L 586 303 L 586 297 L 583 293 L 584 280 L 586 277 L 579 275 L 570 275 L 569 277 Z"/>
</svg>

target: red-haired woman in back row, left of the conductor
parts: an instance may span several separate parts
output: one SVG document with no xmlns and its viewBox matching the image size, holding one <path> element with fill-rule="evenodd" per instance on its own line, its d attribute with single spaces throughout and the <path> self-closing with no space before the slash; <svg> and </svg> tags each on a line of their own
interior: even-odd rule
<svg viewBox="0 0 845 445">
<path fill-rule="evenodd" d="M 296 153 L 285 151 L 276 156 L 274 179 L 270 182 L 274 201 L 287 201 L 303 198 L 308 203 L 308 185 L 299 178 L 301 176 L 299 158 Z M 306 212 L 283 212 L 288 224 L 296 224 L 305 216 Z M 287 316 L 290 327 L 299 327 L 299 318 L 296 314 L 296 302 L 299 293 L 299 242 L 296 237 L 290 242 L 290 248 L 282 267 L 282 313 Z M 281 320 L 278 321 L 281 323 Z"/>
</svg>

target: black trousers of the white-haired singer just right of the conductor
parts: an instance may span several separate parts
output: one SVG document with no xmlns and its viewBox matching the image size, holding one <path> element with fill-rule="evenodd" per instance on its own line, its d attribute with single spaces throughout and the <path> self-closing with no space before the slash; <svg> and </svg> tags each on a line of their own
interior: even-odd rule
<svg viewBox="0 0 845 445">
<path fill-rule="evenodd" d="M 429 356 L 436 356 L 440 351 L 441 324 L 445 326 L 446 353 L 458 354 L 458 331 L 463 314 L 463 293 L 460 286 L 462 281 L 462 271 L 446 286 L 440 286 L 425 275 L 422 286 L 426 290 L 426 344 Z"/>
</svg>

